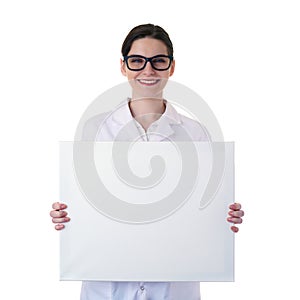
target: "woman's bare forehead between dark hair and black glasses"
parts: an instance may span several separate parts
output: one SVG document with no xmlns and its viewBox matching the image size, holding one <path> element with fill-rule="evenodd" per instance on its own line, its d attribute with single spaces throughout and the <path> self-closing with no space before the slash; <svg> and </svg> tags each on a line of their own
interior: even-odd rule
<svg viewBox="0 0 300 300">
<path fill-rule="evenodd" d="M 141 38 L 135 40 L 130 48 L 128 55 L 139 54 L 151 57 L 157 54 L 168 54 L 167 46 L 163 41 L 154 38 Z"/>
</svg>

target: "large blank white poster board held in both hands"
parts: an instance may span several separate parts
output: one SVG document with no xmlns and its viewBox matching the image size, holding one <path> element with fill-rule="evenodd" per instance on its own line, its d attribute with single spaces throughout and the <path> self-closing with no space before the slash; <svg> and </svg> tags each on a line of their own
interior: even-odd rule
<svg viewBox="0 0 300 300">
<path fill-rule="evenodd" d="M 234 144 L 129 144 L 60 143 L 60 279 L 233 281 Z"/>
</svg>

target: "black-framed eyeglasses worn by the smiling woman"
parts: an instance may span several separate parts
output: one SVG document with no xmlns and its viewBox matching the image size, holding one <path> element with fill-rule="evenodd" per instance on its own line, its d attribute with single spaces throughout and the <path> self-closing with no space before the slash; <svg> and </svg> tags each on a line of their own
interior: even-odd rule
<svg viewBox="0 0 300 300">
<path fill-rule="evenodd" d="M 166 71 L 170 68 L 173 61 L 173 56 L 171 55 L 155 55 L 152 57 L 145 57 L 142 55 L 129 55 L 124 56 L 124 61 L 126 62 L 127 68 L 131 71 L 141 71 L 143 70 L 147 62 L 150 62 L 151 67 L 157 71 Z"/>
</svg>

